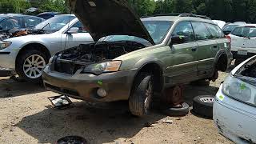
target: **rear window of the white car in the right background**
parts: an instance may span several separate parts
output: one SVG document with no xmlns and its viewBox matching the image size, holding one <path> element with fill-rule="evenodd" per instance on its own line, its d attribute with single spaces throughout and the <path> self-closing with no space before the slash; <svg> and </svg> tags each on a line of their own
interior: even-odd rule
<svg viewBox="0 0 256 144">
<path fill-rule="evenodd" d="M 243 26 L 236 27 L 231 34 L 238 37 L 254 38 L 256 37 L 256 27 L 254 26 Z"/>
</svg>

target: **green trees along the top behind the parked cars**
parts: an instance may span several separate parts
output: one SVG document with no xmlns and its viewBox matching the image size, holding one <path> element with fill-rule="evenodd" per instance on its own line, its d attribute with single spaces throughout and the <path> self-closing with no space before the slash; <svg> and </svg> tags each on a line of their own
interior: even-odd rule
<svg viewBox="0 0 256 144">
<path fill-rule="evenodd" d="M 194 13 L 226 22 L 256 22 L 256 0 L 127 0 L 139 16 Z M 30 6 L 69 13 L 65 0 L 0 0 L 0 13 L 22 13 Z"/>
</svg>

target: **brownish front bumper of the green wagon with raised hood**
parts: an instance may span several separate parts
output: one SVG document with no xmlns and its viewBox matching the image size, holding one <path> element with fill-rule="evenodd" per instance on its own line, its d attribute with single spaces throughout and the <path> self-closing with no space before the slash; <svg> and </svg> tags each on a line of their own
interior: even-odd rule
<svg viewBox="0 0 256 144">
<path fill-rule="evenodd" d="M 47 90 L 88 102 L 127 100 L 130 96 L 134 76 L 137 73 L 137 70 L 122 70 L 97 76 L 81 74 L 82 70 L 78 70 L 76 74 L 70 75 L 50 70 L 49 67 L 46 66 L 42 74 Z M 106 90 L 106 97 L 100 98 L 98 96 L 96 92 L 98 88 Z"/>
</svg>

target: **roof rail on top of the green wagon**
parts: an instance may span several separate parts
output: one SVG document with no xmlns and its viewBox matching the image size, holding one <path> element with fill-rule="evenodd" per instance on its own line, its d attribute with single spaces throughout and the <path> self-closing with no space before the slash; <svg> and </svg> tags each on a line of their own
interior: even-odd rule
<svg viewBox="0 0 256 144">
<path fill-rule="evenodd" d="M 195 17 L 195 18 L 205 18 L 210 19 L 209 17 L 205 15 L 198 15 L 198 14 L 192 14 L 192 13 L 169 13 L 169 14 L 155 14 L 153 16 L 143 16 L 142 18 L 148 18 L 148 17 L 159 17 L 159 16 L 178 16 L 178 17 Z M 211 20 L 211 19 L 210 19 Z"/>
</svg>

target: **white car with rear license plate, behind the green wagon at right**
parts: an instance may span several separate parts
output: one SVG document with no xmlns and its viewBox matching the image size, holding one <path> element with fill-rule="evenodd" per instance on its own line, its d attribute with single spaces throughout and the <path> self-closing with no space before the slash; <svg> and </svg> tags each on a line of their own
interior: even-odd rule
<svg viewBox="0 0 256 144">
<path fill-rule="evenodd" d="M 229 36 L 236 65 L 256 54 L 256 24 L 237 26 Z"/>
</svg>

